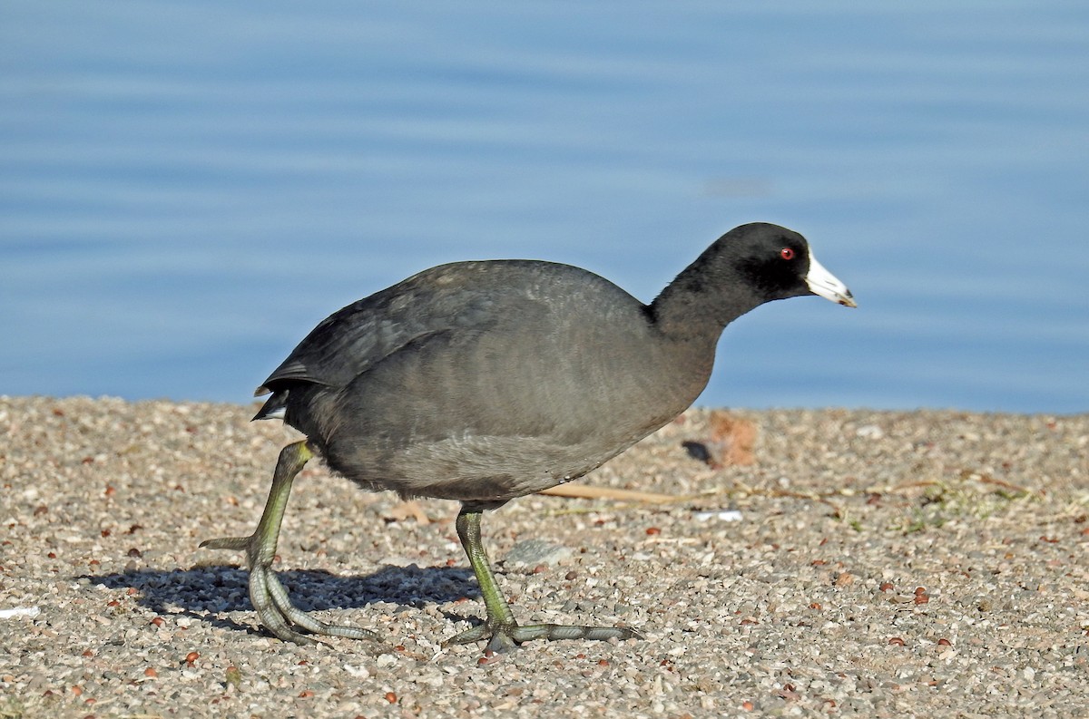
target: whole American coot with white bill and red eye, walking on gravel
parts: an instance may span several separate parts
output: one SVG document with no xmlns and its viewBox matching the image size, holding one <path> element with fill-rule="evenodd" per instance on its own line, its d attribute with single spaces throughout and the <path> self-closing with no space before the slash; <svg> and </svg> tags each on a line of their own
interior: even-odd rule
<svg viewBox="0 0 1089 719">
<path fill-rule="evenodd" d="M 480 542 L 480 515 L 579 478 L 683 412 L 707 384 L 730 322 L 773 299 L 855 307 L 802 235 L 748 224 L 720 237 L 650 305 L 579 268 L 528 260 L 425 270 L 322 321 L 258 388 L 254 419 L 307 439 L 280 453 L 247 537 L 249 597 L 285 641 L 377 639 L 292 606 L 271 571 L 295 475 L 315 454 L 366 489 L 462 503 L 456 529 L 486 620 L 448 641 L 504 650 L 534 639 L 628 639 L 626 628 L 519 625 Z M 294 625 L 294 628 L 292 627 Z"/>
</svg>

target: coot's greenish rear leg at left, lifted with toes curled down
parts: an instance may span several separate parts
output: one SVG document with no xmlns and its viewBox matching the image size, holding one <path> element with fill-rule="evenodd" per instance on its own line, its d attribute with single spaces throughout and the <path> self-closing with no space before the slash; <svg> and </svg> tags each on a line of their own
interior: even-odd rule
<svg viewBox="0 0 1089 719">
<path fill-rule="evenodd" d="M 269 489 L 265 511 L 254 533 L 249 536 L 206 540 L 200 546 L 209 549 L 240 549 L 246 553 L 246 560 L 249 563 L 249 600 L 257 610 L 261 623 L 284 642 L 314 643 L 311 637 L 296 632 L 291 624 L 314 634 L 377 640 L 379 637 L 374 632 L 327 624 L 296 609 L 287 597 L 286 587 L 271 569 L 277 541 L 280 537 L 280 522 L 283 520 L 283 510 L 287 507 L 287 497 L 291 495 L 291 484 L 311 457 L 314 451 L 306 442 L 296 442 L 284 447 L 272 475 L 272 488 Z"/>
</svg>

